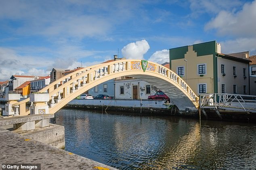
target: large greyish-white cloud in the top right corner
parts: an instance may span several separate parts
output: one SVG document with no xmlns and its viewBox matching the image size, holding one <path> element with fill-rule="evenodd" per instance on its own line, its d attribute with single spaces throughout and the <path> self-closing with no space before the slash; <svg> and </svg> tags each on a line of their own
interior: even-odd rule
<svg viewBox="0 0 256 170">
<path fill-rule="evenodd" d="M 222 10 L 208 22 L 205 30 L 216 29 L 219 35 L 256 37 L 256 0 L 246 3 L 238 12 Z"/>
</svg>

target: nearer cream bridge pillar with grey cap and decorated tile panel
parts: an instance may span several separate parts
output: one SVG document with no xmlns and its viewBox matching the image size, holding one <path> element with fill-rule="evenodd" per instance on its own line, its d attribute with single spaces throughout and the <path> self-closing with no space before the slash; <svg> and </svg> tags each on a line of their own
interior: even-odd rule
<svg viewBox="0 0 256 170">
<path fill-rule="evenodd" d="M 30 114 L 48 114 L 49 107 L 47 102 L 49 101 L 48 93 L 33 93 L 30 94 L 30 102 L 33 102 L 33 105 L 30 106 Z"/>
</svg>

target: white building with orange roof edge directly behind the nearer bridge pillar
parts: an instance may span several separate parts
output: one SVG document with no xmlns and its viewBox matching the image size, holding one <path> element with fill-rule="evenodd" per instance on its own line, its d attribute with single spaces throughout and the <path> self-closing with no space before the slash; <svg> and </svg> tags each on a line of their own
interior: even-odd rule
<svg viewBox="0 0 256 170">
<path fill-rule="evenodd" d="M 38 92 L 45 86 L 50 84 L 50 76 L 40 77 L 30 81 L 30 93 Z"/>
</svg>

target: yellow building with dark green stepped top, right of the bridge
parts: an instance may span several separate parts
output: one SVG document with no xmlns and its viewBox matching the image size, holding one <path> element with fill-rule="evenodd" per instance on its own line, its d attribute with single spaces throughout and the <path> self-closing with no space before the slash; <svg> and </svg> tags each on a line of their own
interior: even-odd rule
<svg viewBox="0 0 256 170">
<path fill-rule="evenodd" d="M 250 94 L 249 52 L 222 54 L 216 41 L 169 50 L 170 68 L 197 94 Z"/>
</svg>

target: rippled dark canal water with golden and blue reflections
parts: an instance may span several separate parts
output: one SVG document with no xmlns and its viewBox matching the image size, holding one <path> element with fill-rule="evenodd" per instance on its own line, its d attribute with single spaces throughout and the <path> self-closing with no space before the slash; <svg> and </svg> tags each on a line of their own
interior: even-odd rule
<svg viewBox="0 0 256 170">
<path fill-rule="evenodd" d="M 120 170 L 255 170 L 256 125 L 61 109 L 65 150 Z"/>
</svg>

